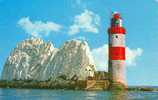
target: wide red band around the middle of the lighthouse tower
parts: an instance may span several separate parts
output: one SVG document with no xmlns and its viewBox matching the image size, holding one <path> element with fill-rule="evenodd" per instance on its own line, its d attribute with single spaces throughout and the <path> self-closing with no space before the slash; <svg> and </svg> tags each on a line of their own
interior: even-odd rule
<svg viewBox="0 0 158 100">
<path fill-rule="evenodd" d="M 125 60 L 125 48 L 109 47 L 109 58 L 111 60 Z"/>
</svg>

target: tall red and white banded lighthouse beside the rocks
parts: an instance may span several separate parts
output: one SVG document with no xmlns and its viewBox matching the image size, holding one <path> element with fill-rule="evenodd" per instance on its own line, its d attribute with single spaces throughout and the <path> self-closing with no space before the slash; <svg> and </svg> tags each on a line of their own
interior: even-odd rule
<svg viewBox="0 0 158 100">
<path fill-rule="evenodd" d="M 108 29 L 110 87 L 126 87 L 125 80 L 125 33 L 122 18 L 114 12 Z"/>
</svg>

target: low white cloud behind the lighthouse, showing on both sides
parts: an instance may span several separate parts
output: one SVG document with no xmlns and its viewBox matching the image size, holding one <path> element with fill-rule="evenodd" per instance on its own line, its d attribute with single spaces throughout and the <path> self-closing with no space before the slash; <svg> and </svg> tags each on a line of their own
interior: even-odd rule
<svg viewBox="0 0 158 100">
<path fill-rule="evenodd" d="M 92 55 L 97 66 L 97 70 L 108 71 L 108 45 L 105 44 L 99 48 L 93 49 Z M 141 48 L 130 49 L 126 48 L 126 65 L 135 66 L 136 59 L 141 56 L 143 50 Z"/>
</svg>

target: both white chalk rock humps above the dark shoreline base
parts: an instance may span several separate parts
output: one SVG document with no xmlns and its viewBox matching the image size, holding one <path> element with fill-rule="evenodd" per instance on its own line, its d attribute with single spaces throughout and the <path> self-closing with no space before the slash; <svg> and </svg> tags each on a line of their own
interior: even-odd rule
<svg viewBox="0 0 158 100">
<path fill-rule="evenodd" d="M 8 57 L 2 80 L 54 80 L 58 77 L 85 80 L 93 76 L 95 66 L 88 44 L 70 40 L 60 48 L 41 39 L 27 39 Z"/>
</svg>

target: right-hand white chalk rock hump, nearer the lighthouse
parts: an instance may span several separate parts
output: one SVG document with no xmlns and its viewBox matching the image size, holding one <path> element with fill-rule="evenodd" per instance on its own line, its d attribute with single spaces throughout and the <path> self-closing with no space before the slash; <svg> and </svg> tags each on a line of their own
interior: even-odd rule
<svg viewBox="0 0 158 100">
<path fill-rule="evenodd" d="M 54 76 L 66 75 L 68 79 L 75 76 L 80 80 L 86 79 L 87 76 L 93 76 L 95 71 L 88 44 L 79 40 L 65 42 L 52 63 Z"/>
</svg>

